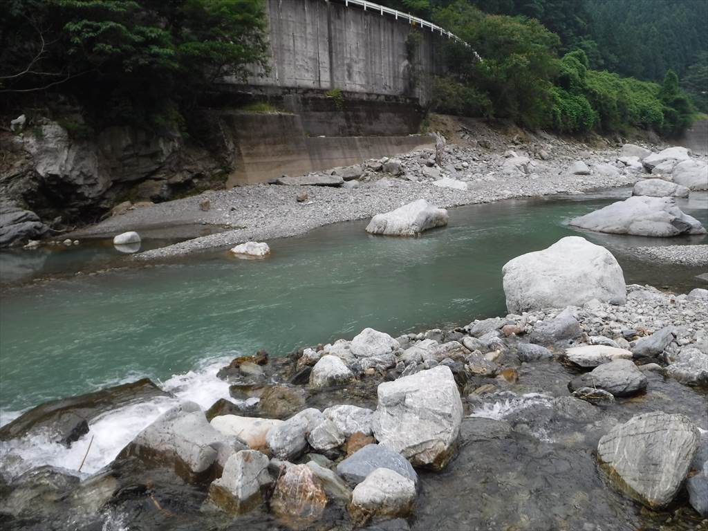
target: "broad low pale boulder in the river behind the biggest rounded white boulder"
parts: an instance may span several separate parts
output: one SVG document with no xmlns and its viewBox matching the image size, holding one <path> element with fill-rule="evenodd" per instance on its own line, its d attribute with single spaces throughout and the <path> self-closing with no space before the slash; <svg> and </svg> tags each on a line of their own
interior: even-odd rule
<svg viewBox="0 0 708 531">
<path fill-rule="evenodd" d="M 671 198 L 634 195 L 613 202 L 600 210 L 571 219 L 573 227 L 610 234 L 634 236 L 679 236 L 705 234 L 706 229 L 694 217 L 684 214 Z"/>
</svg>

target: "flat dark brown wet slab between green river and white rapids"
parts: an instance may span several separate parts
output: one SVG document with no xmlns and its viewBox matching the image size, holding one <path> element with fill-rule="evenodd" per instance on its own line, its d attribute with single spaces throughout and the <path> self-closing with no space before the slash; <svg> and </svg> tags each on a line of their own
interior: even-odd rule
<svg viewBox="0 0 708 531">
<path fill-rule="evenodd" d="M 89 423 L 107 411 L 127 406 L 137 401 L 169 396 L 149 379 L 122 384 L 101 391 L 72 396 L 41 404 L 11 423 L 0 428 L 0 440 L 36 435 L 49 435 L 50 440 L 71 445 L 89 433 Z"/>
</svg>

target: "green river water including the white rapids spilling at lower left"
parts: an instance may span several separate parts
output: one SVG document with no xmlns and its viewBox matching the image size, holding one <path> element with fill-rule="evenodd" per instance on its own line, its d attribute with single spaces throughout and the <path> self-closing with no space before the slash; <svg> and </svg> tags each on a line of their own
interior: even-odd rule
<svg viewBox="0 0 708 531">
<path fill-rule="evenodd" d="M 139 377 L 207 408 L 228 396 L 227 384 L 215 373 L 236 355 L 259 348 L 284 355 L 300 346 L 351 338 L 367 326 L 396 336 L 504 315 L 502 265 L 572 234 L 607 246 L 628 283 L 679 291 L 697 287 L 700 268 L 642 261 L 631 248 L 704 244 L 706 236 L 647 239 L 567 226 L 571 217 L 629 193 L 459 207 L 450 211 L 447 228 L 418 238 L 370 236 L 365 221 L 336 224 L 271 241 L 272 257 L 263 261 L 215 252 L 169 265 L 5 285 L 0 423 L 42 401 Z M 707 195 L 692 194 L 680 206 L 708 226 Z M 62 258 L 64 270 L 86 267 L 88 249 L 62 250 L 76 253 Z M 13 264 L 32 261 L 37 252 L 14 253 Z M 105 258 L 110 249 L 101 253 Z M 40 267 L 35 274 L 56 275 L 62 267 Z M 110 462 L 172 403 L 159 400 L 113 411 L 94 423 L 96 448 L 84 471 Z M 28 463 L 76 469 L 88 444 L 87 435 L 69 450 L 36 441 L 18 452 Z"/>
</svg>

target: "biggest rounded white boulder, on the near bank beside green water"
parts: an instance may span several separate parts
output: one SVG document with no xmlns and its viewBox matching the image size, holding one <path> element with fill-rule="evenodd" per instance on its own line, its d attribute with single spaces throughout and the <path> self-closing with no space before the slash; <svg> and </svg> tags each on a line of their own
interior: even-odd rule
<svg viewBox="0 0 708 531">
<path fill-rule="evenodd" d="M 612 253 L 580 236 L 517 256 L 501 271 L 506 307 L 515 314 L 582 306 L 591 299 L 624 304 L 627 298 L 622 268 Z"/>
</svg>

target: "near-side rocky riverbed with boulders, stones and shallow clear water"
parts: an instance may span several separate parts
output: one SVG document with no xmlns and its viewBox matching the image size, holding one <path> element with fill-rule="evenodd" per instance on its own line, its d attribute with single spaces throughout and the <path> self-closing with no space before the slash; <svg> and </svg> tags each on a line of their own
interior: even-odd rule
<svg viewBox="0 0 708 531">
<path fill-rule="evenodd" d="M 542 258 L 567 246 L 555 298 L 522 281 L 542 279 L 557 265 Z M 106 408 L 135 406 L 125 404 L 131 387 L 40 406 L 0 429 L 0 521 L 708 529 L 708 291 L 624 287 L 616 264 L 600 246 L 563 239 L 505 266 L 513 313 L 236 358 L 217 375 L 231 398 L 207 411 L 139 382 L 137 401 L 172 407 L 93 474 L 29 469 L 28 445 L 90 446 Z M 564 282 L 577 287 L 572 302 Z"/>
</svg>

